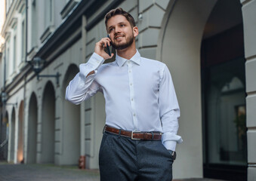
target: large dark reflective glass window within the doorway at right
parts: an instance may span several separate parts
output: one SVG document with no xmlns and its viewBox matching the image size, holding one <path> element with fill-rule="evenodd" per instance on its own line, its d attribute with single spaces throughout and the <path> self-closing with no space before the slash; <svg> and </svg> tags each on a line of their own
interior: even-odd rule
<svg viewBox="0 0 256 181">
<path fill-rule="evenodd" d="M 211 67 L 207 77 L 208 161 L 247 166 L 245 60 Z"/>
</svg>

